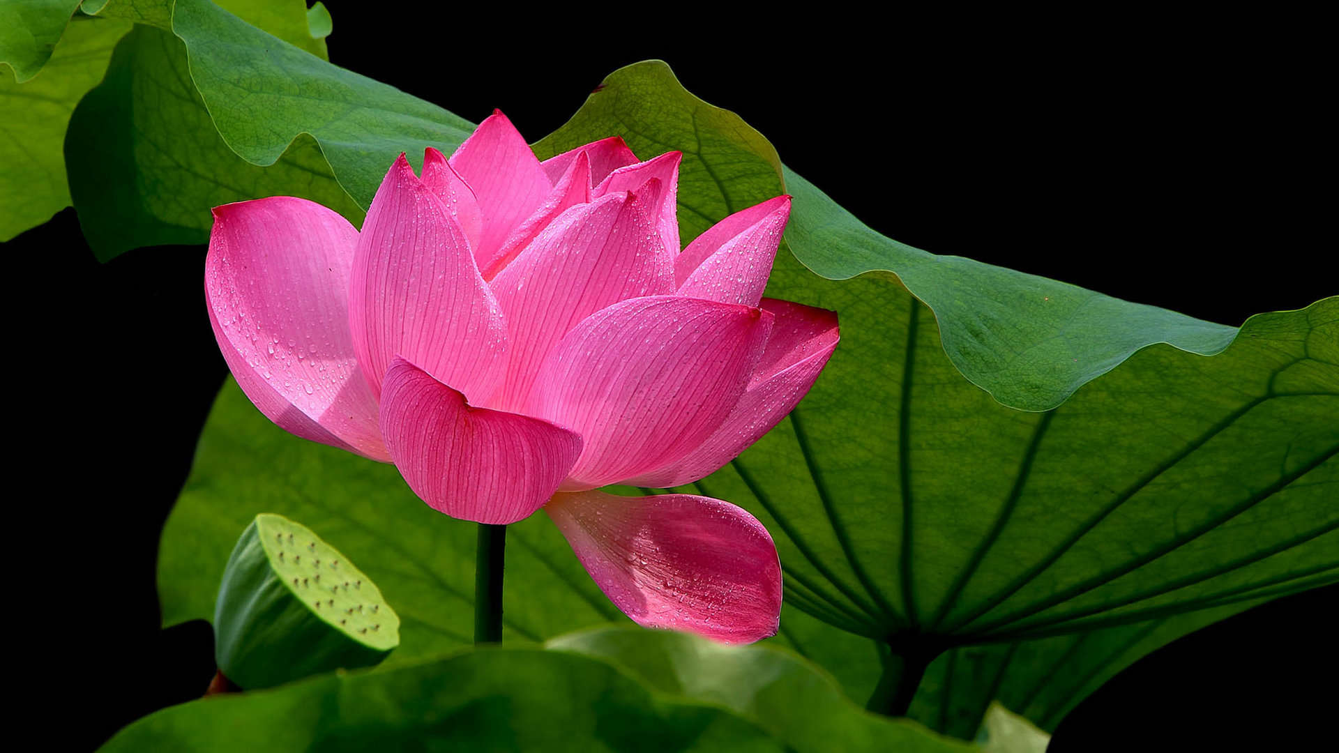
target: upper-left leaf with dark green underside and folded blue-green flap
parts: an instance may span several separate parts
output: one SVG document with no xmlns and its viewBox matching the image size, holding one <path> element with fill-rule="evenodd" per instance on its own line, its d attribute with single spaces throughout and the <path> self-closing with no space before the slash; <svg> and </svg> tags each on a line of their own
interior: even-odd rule
<svg viewBox="0 0 1339 753">
<path fill-rule="evenodd" d="M 99 11 L 141 23 L 80 103 L 67 141 L 74 204 L 104 261 L 204 243 L 213 206 L 265 196 L 311 198 L 360 224 L 396 154 L 416 163 L 424 146 L 451 150 L 473 127 L 324 60 L 324 8 L 222 5 L 112 1 Z"/>
</svg>

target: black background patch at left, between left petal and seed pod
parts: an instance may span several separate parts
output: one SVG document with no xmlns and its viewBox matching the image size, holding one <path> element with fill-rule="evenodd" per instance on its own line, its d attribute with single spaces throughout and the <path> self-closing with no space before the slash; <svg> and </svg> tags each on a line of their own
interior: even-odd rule
<svg viewBox="0 0 1339 753">
<path fill-rule="evenodd" d="M 226 368 L 205 314 L 202 247 L 99 264 L 66 209 L 4 255 L 27 301 L 16 402 L 39 462 L 11 461 L 36 477 L 11 509 L 44 563 L 44 577 L 20 588 L 47 607 L 24 661 L 37 667 L 43 705 L 70 714 L 58 746 L 84 750 L 198 698 L 214 673 L 208 623 L 159 630 L 155 569 Z"/>
</svg>

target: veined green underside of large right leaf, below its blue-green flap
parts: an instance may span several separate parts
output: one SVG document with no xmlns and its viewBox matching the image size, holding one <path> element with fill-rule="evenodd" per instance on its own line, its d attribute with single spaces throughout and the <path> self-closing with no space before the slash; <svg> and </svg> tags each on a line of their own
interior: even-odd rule
<svg viewBox="0 0 1339 753">
<path fill-rule="evenodd" d="M 1022 413 L 961 379 L 898 285 L 801 275 L 774 283 L 838 310 L 842 347 L 786 423 L 695 485 L 781 535 L 797 606 L 975 643 L 1336 576 L 1339 299 L 1256 316 L 1214 358 L 1148 348 Z"/>
</svg>

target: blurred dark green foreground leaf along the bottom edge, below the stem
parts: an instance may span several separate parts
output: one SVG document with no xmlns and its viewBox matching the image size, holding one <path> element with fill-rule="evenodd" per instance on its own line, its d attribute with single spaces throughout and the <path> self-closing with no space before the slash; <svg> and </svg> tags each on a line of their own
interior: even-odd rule
<svg viewBox="0 0 1339 753">
<path fill-rule="evenodd" d="M 490 648 L 320 675 L 145 717 L 115 750 L 785 750 L 727 709 L 671 698 L 612 665 Z"/>
</svg>

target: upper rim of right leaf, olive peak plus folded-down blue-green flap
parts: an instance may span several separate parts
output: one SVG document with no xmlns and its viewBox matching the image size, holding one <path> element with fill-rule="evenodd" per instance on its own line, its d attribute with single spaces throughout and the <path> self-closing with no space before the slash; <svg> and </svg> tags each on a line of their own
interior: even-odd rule
<svg viewBox="0 0 1339 753">
<path fill-rule="evenodd" d="M 534 147 L 549 157 L 612 133 L 639 155 L 684 153 L 684 243 L 726 214 L 794 196 L 786 243 L 805 267 L 833 280 L 896 273 L 937 316 L 953 364 L 1004 405 L 1047 410 L 1142 347 L 1172 343 L 1212 355 L 1236 336 L 1233 327 L 886 238 L 783 169 L 758 131 L 690 94 L 659 60 L 611 74 Z"/>
</svg>

